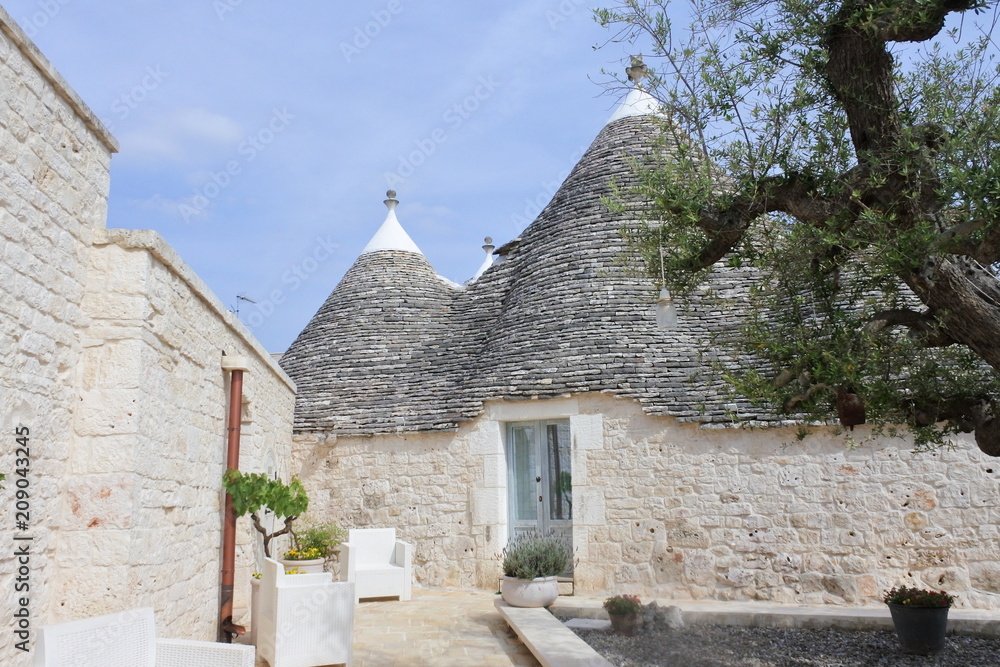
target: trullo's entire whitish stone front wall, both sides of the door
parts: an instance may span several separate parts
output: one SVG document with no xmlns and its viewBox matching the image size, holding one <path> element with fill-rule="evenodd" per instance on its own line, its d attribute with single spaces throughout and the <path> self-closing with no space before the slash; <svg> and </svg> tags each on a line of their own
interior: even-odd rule
<svg viewBox="0 0 1000 667">
<path fill-rule="evenodd" d="M 455 433 L 300 433 L 312 512 L 394 526 L 426 586 L 494 589 L 506 539 L 503 424 L 570 420 L 577 590 L 875 605 L 900 583 L 1000 608 L 1000 460 L 827 431 L 699 429 L 600 395 L 495 403 Z M 859 428 L 854 438 L 863 441 Z"/>
</svg>

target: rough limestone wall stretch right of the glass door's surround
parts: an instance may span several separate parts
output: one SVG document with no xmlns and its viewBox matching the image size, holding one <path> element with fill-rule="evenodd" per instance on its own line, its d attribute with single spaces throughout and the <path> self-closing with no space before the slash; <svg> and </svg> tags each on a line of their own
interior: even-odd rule
<svg viewBox="0 0 1000 667">
<path fill-rule="evenodd" d="M 972 442 L 914 453 L 832 433 L 705 430 L 599 401 L 604 491 L 592 590 L 674 598 L 877 604 L 911 583 L 1000 608 L 1000 461 Z M 869 434 L 859 428 L 856 440 Z M 600 566 L 600 567 L 598 567 Z"/>
</svg>

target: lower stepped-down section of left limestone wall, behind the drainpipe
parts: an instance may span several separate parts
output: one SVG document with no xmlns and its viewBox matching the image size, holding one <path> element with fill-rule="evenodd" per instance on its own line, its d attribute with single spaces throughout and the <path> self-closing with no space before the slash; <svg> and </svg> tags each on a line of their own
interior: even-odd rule
<svg viewBox="0 0 1000 667">
<path fill-rule="evenodd" d="M 54 619 L 152 606 L 167 637 L 214 639 L 229 374 L 244 376 L 240 467 L 290 455 L 294 389 L 153 232 L 109 230 L 90 253 L 75 441 L 52 544 Z M 255 569 L 239 525 L 237 618 Z"/>
</svg>

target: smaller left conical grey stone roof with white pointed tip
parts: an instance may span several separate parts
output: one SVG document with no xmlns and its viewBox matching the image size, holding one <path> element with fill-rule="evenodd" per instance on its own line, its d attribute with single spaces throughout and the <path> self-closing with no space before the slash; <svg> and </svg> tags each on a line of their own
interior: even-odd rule
<svg viewBox="0 0 1000 667">
<path fill-rule="evenodd" d="M 394 207 L 281 358 L 298 388 L 297 429 L 388 433 L 454 423 L 442 426 L 427 407 L 448 393 L 440 370 L 460 290 L 434 272 Z"/>
</svg>

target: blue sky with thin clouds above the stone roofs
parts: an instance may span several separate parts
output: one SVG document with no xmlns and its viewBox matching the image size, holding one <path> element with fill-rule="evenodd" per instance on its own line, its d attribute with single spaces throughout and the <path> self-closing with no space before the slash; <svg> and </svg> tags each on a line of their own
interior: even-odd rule
<svg viewBox="0 0 1000 667">
<path fill-rule="evenodd" d="M 0 0 L 112 129 L 109 227 L 154 229 L 272 352 L 385 217 L 462 282 L 623 93 L 582 0 Z"/>
</svg>

